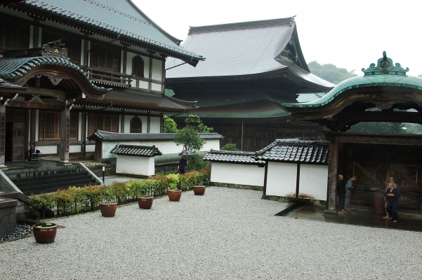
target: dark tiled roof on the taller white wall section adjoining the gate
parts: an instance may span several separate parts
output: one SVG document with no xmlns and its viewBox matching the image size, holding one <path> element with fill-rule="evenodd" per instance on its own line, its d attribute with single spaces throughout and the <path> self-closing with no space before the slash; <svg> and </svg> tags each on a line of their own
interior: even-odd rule
<svg viewBox="0 0 422 280">
<path fill-rule="evenodd" d="M 328 164 L 329 143 L 326 141 L 301 141 L 279 139 L 256 152 L 256 158 L 270 162 L 297 162 Z"/>
</svg>

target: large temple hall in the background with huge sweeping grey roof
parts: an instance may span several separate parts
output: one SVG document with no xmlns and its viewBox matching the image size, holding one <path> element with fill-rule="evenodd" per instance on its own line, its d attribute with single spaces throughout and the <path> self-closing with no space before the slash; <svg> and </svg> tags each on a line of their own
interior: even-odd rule
<svg viewBox="0 0 422 280">
<path fill-rule="evenodd" d="M 206 60 L 194 68 L 169 57 L 166 88 L 197 101 L 191 113 L 225 137 L 222 145 L 258 151 L 275 139 L 324 139 L 324 127 L 294 120 L 282 106 L 334 87 L 310 73 L 294 18 L 190 27 L 183 47 Z"/>
</svg>

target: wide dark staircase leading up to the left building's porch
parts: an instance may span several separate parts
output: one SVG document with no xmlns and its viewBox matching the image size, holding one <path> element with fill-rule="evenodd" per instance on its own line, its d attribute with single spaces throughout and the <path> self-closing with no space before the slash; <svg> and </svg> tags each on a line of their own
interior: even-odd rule
<svg viewBox="0 0 422 280">
<path fill-rule="evenodd" d="M 70 186 L 95 185 L 95 178 L 79 164 L 9 169 L 6 176 L 25 195 L 51 193 Z"/>
</svg>

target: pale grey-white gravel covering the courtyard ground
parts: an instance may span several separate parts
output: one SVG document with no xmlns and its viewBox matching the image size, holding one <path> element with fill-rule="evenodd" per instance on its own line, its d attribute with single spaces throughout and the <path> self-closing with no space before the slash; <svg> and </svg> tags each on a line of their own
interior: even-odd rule
<svg viewBox="0 0 422 280">
<path fill-rule="evenodd" d="M 273 216 L 261 192 L 209 187 L 55 220 L 53 244 L 0 244 L 0 279 L 421 279 L 422 233 Z M 378 278 L 377 278 L 378 277 Z"/>
</svg>

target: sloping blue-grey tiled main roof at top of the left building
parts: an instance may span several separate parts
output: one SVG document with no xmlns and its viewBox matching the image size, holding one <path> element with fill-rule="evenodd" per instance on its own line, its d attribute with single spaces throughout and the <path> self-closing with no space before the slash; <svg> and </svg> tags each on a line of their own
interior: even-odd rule
<svg viewBox="0 0 422 280">
<path fill-rule="evenodd" d="M 185 50 L 174 38 L 147 17 L 129 0 L 26 0 L 32 8 L 60 15 L 76 24 L 83 22 L 93 27 L 119 34 L 119 40 L 131 38 L 173 52 L 177 57 L 197 63 L 201 55 Z"/>
</svg>

